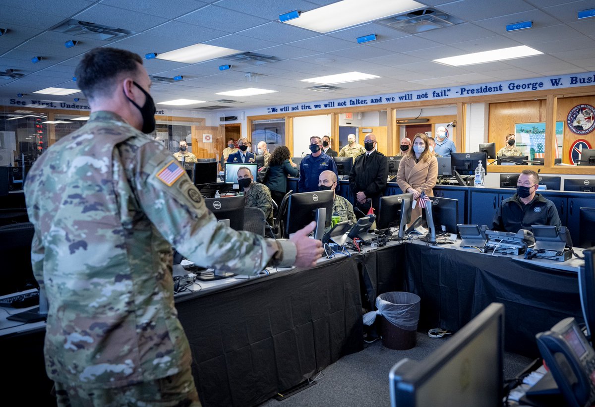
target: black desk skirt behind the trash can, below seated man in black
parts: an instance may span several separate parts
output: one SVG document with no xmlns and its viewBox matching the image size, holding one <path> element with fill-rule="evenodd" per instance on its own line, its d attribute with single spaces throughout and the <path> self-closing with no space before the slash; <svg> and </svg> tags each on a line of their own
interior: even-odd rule
<svg viewBox="0 0 595 407">
<path fill-rule="evenodd" d="M 537 333 L 566 317 L 583 321 L 576 273 L 505 256 L 403 246 L 405 291 L 421 297 L 419 331 L 437 327 L 457 331 L 491 302 L 501 302 L 505 305 L 506 350 L 536 357 Z M 397 252 L 394 256 L 399 257 Z M 390 262 L 390 255 L 384 258 L 379 257 L 377 265 L 379 280 L 403 273 L 402 264 Z M 400 290 L 399 285 L 395 288 Z M 392 290 L 384 288 L 378 294 L 386 291 Z"/>
</svg>

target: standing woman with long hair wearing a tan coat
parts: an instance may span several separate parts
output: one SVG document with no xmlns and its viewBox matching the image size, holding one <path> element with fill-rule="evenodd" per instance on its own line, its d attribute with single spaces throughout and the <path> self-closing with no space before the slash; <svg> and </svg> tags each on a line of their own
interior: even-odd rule
<svg viewBox="0 0 595 407">
<path fill-rule="evenodd" d="M 438 160 L 428 148 L 428 137 L 424 133 L 415 134 L 413 146 L 399 163 L 397 184 L 403 193 L 412 193 L 418 199 L 421 192 L 434 196 L 432 188 L 438 177 Z M 415 205 L 411 212 L 411 221 L 421 215 L 421 209 Z"/>
</svg>

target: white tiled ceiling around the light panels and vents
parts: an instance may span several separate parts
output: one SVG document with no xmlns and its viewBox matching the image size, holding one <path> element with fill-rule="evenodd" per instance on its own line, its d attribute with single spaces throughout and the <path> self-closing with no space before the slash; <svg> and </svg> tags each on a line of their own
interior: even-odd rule
<svg viewBox="0 0 595 407">
<path fill-rule="evenodd" d="M 334 1 L 0 0 L 0 28 L 8 29 L 0 36 L 0 71 L 11 68 L 25 75 L 16 80 L 0 79 L 0 100 L 15 98 L 18 93 L 30 95 L 49 86 L 76 89 L 74 67 L 84 52 L 96 46 L 114 46 L 145 55 L 206 43 L 280 59 L 258 66 L 232 64 L 227 71 L 218 70 L 219 65 L 230 63 L 224 59 L 199 64 L 145 61 L 151 75 L 184 77 L 180 82 L 154 85 L 156 102 L 177 98 L 208 101 L 189 109 L 221 105 L 218 99 L 237 101 L 225 105 L 227 109 L 246 109 L 595 71 L 595 17 L 577 20 L 578 11 L 595 7 L 593 0 L 418 0 L 465 22 L 417 35 L 378 23 L 321 35 L 278 22 L 278 15 L 284 12 L 308 11 Z M 137 34 L 111 42 L 48 31 L 70 18 Z M 527 20 L 533 21 L 533 28 L 505 31 L 506 24 Z M 356 37 L 371 33 L 378 36 L 374 42 L 356 42 Z M 78 45 L 65 48 L 64 42 L 70 39 L 78 39 Z M 466 67 L 432 61 L 517 45 L 528 45 L 544 54 Z M 42 60 L 33 64 L 31 58 L 36 56 Z M 338 84 L 345 89 L 335 93 L 314 92 L 306 89 L 313 84 L 300 82 L 348 71 L 380 78 Z M 248 80 L 246 73 L 263 76 Z M 215 95 L 245 87 L 278 92 L 248 98 Z M 84 100 L 82 93 L 49 98 Z"/>
</svg>

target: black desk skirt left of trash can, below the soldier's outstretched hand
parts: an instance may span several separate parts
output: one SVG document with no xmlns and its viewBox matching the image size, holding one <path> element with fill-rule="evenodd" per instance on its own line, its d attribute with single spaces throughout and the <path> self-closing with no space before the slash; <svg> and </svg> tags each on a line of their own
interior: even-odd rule
<svg viewBox="0 0 595 407">
<path fill-rule="evenodd" d="M 176 302 L 208 406 L 250 406 L 363 349 L 358 264 L 325 262 Z"/>
</svg>

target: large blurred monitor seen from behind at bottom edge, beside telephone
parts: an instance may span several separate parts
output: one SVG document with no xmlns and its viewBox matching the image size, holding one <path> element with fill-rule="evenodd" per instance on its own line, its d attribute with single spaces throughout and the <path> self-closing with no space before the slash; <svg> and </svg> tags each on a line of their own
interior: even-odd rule
<svg viewBox="0 0 595 407">
<path fill-rule="evenodd" d="M 392 407 L 502 406 L 504 306 L 491 303 L 421 362 L 389 374 Z"/>
</svg>

